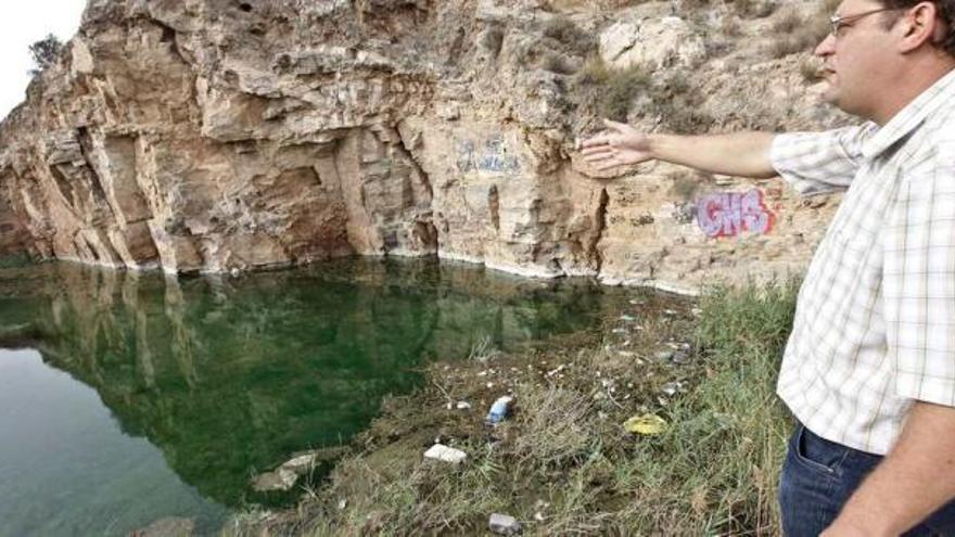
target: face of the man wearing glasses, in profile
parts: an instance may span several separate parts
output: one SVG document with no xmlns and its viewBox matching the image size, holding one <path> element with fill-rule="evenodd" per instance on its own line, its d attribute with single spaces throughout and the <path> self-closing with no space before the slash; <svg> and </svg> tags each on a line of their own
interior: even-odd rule
<svg viewBox="0 0 955 537">
<path fill-rule="evenodd" d="M 891 90 L 895 55 L 884 17 L 890 13 L 853 15 L 884 8 L 874 0 L 844 0 L 836 15 L 848 17 L 836 35 L 816 47 L 823 60 L 826 89 L 823 98 L 857 116 L 870 117 L 879 92 Z"/>
</svg>

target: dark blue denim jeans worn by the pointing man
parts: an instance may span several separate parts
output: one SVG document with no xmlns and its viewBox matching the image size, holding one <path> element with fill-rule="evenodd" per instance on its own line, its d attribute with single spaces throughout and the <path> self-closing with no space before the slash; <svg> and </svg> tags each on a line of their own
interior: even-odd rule
<svg viewBox="0 0 955 537">
<path fill-rule="evenodd" d="M 816 537 L 833 520 L 865 476 L 882 460 L 816 436 L 798 424 L 779 482 L 782 532 L 787 537 Z M 905 536 L 955 536 L 952 501 Z"/>
</svg>

